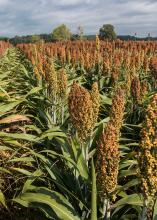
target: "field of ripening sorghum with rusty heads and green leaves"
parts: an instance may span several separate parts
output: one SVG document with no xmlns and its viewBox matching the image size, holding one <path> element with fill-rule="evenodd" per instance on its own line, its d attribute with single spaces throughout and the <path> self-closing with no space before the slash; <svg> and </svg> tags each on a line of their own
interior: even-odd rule
<svg viewBox="0 0 157 220">
<path fill-rule="evenodd" d="M 0 219 L 157 219 L 157 42 L 0 42 Z"/>
</svg>

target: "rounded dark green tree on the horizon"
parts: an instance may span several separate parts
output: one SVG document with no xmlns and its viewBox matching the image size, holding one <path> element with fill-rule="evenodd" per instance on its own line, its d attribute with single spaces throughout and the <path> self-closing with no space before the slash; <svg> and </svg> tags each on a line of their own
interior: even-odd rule
<svg viewBox="0 0 157 220">
<path fill-rule="evenodd" d="M 114 30 L 114 26 L 112 24 L 104 24 L 99 30 L 99 37 L 102 40 L 104 39 L 115 40 L 116 32 Z"/>
</svg>

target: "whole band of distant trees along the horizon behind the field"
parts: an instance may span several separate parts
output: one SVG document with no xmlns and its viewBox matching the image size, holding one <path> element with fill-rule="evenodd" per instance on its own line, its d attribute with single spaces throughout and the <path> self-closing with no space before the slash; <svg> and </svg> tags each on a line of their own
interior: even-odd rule
<svg viewBox="0 0 157 220">
<path fill-rule="evenodd" d="M 116 38 L 121 40 L 157 40 L 157 38 L 152 38 L 150 34 L 145 38 L 139 38 L 136 35 L 117 36 L 115 27 L 112 24 L 104 24 L 100 27 L 98 36 L 101 40 L 107 39 L 110 41 L 115 40 Z M 96 35 L 85 35 L 82 26 L 78 26 L 77 33 L 73 34 L 65 24 L 61 24 L 50 34 L 15 36 L 13 38 L 0 37 L 0 40 L 9 41 L 13 45 L 16 45 L 20 43 L 56 42 L 66 40 L 93 40 L 95 37 Z"/>
</svg>

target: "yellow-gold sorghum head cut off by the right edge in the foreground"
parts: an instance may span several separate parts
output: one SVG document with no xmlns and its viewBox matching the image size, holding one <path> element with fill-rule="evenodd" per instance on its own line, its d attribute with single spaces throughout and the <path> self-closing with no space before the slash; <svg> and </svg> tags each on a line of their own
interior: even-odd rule
<svg viewBox="0 0 157 220">
<path fill-rule="evenodd" d="M 145 198 L 154 197 L 157 193 L 157 94 L 147 107 L 138 161 L 143 194 Z"/>
</svg>

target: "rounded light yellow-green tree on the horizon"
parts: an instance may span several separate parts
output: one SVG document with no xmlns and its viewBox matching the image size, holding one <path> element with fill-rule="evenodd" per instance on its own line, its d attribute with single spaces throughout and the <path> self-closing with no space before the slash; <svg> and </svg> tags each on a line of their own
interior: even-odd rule
<svg viewBox="0 0 157 220">
<path fill-rule="evenodd" d="M 70 29 L 65 25 L 61 24 L 57 28 L 55 28 L 52 32 L 52 39 L 53 40 L 70 40 L 72 34 L 70 32 Z"/>
</svg>

